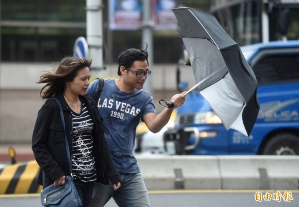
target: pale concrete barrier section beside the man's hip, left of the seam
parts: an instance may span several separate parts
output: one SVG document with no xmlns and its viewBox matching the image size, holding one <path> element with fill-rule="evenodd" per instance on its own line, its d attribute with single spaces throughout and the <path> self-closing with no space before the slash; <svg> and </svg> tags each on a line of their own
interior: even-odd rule
<svg viewBox="0 0 299 207">
<path fill-rule="evenodd" d="M 214 156 L 138 156 L 138 163 L 148 190 L 221 188 Z"/>
</svg>

